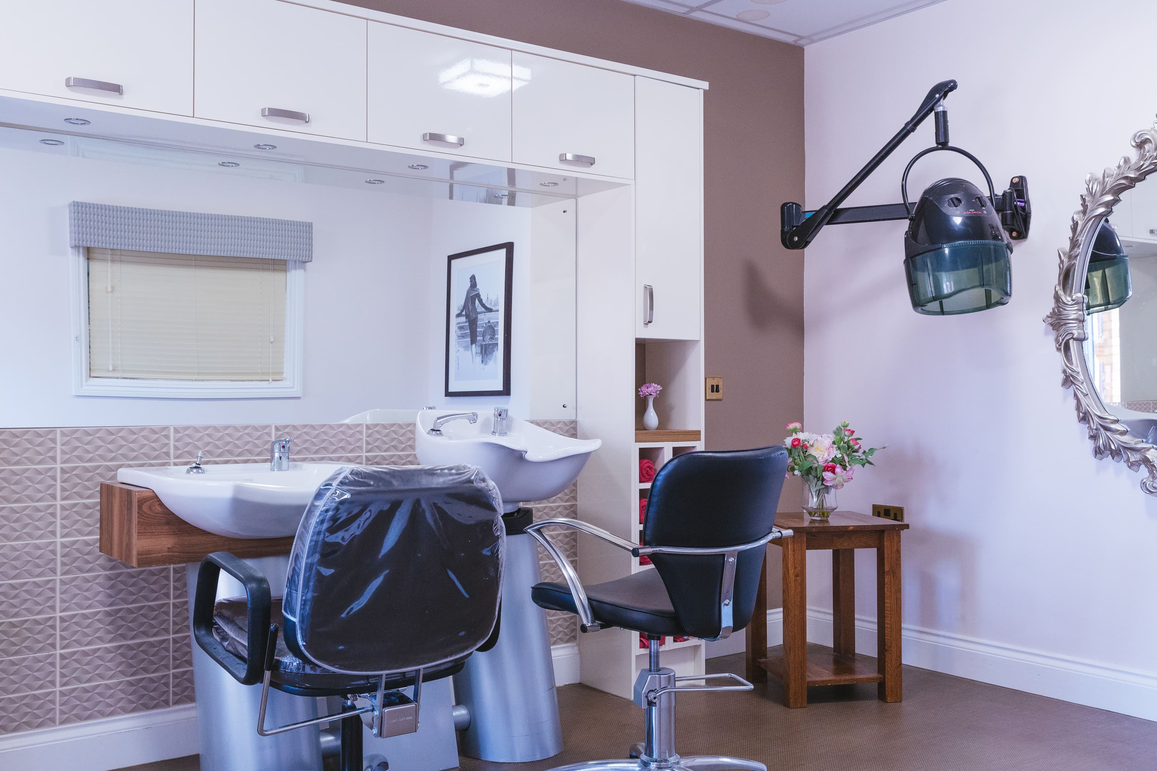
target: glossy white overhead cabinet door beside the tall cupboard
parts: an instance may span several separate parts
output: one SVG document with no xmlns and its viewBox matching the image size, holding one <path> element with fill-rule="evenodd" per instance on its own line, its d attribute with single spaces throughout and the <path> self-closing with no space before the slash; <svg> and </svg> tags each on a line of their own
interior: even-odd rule
<svg viewBox="0 0 1157 771">
<path fill-rule="evenodd" d="M 519 51 L 513 64 L 516 163 L 634 177 L 634 77 Z"/>
</svg>

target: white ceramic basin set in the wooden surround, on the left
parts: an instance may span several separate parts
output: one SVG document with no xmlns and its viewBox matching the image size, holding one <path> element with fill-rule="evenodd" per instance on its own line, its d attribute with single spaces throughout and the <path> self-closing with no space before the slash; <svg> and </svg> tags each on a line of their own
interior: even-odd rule
<svg viewBox="0 0 1157 771">
<path fill-rule="evenodd" d="M 341 464 L 206 464 L 204 474 L 187 466 L 121 468 L 117 481 L 156 492 L 169 511 L 202 531 L 236 539 L 294 535 L 318 485 Z"/>
</svg>

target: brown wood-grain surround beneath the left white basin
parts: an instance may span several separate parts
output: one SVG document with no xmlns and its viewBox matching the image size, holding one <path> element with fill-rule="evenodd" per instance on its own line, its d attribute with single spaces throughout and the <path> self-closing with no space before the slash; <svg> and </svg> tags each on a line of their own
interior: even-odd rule
<svg viewBox="0 0 1157 771">
<path fill-rule="evenodd" d="M 133 568 L 200 562 L 213 551 L 268 557 L 289 554 L 292 547 L 292 535 L 281 539 L 214 535 L 169 511 L 148 488 L 124 482 L 101 484 L 101 554 Z"/>
</svg>

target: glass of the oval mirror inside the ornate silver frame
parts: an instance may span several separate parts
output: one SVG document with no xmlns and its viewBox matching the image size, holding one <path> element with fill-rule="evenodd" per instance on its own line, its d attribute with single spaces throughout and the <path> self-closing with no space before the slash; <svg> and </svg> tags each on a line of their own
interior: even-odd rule
<svg viewBox="0 0 1157 771">
<path fill-rule="evenodd" d="M 1157 181 L 1121 195 L 1088 245 L 1085 365 L 1105 408 L 1157 442 Z"/>
</svg>

